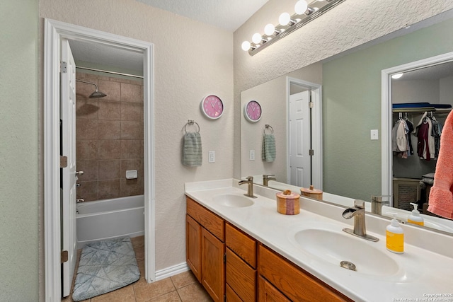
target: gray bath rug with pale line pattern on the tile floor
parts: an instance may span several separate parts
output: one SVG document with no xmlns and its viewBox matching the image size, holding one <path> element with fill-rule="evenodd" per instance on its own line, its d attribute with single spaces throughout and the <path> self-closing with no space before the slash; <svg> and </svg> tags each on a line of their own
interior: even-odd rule
<svg viewBox="0 0 453 302">
<path fill-rule="evenodd" d="M 72 300 L 93 298 L 139 278 L 139 267 L 129 237 L 89 243 L 81 252 Z"/>
</svg>

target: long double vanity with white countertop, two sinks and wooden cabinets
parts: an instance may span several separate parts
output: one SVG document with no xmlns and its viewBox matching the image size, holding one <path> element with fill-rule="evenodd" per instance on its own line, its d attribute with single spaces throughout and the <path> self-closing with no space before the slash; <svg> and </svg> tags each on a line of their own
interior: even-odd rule
<svg viewBox="0 0 453 302">
<path fill-rule="evenodd" d="M 344 232 L 355 219 L 335 204 L 301 197 L 299 214 L 279 214 L 277 192 L 253 185 L 247 197 L 234 179 L 185 184 L 187 262 L 214 301 L 453 301 L 451 235 L 403 225 L 395 254 L 389 219 L 365 215 L 373 242 Z"/>
</svg>

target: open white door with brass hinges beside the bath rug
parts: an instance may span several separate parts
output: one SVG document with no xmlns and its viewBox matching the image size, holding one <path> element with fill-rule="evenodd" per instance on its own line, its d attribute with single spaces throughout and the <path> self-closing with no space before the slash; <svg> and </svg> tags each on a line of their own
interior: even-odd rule
<svg viewBox="0 0 453 302">
<path fill-rule="evenodd" d="M 66 66 L 66 67 L 65 67 Z M 76 265 L 76 64 L 68 40 L 62 40 L 61 72 L 62 156 L 67 167 L 62 168 L 62 250 L 68 261 L 62 265 L 62 296 L 69 296 Z"/>
</svg>

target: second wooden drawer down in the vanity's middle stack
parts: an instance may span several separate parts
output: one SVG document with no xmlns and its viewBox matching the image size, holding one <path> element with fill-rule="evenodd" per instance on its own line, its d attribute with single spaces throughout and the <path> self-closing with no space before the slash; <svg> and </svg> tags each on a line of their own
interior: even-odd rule
<svg viewBox="0 0 453 302">
<path fill-rule="evenodd" d="M 256 301 L 256 270 L 226 248 L 226 283 L 244 302 Z"/>
</svg>

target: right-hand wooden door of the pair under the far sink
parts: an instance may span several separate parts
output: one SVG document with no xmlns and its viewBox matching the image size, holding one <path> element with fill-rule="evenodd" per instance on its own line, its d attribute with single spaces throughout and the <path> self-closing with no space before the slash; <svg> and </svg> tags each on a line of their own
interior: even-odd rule
<svg viewBox="0 0 453 302">
<path fill-rule="evenodd" d="M 205 228 L 201 229 L 201 283 L 212 300 L 221 302 L 225 293 L 225 245 Z"/>
</svg>

